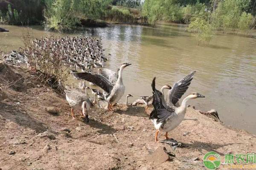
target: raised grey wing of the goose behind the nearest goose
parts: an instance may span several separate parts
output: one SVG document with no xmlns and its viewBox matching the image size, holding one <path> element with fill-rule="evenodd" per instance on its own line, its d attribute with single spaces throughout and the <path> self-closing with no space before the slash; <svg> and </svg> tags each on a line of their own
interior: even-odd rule
<svg viewBox="0 0 256 170">
<path fill-rule="evenodd" d="M 168 105 L 175 105 L 179 101 L 181 96 L 189 88 L 189 85 L 193 79 L 194 74 L 195 71 L 192 71 L 191 73 L 189 73 L 189 75 L 187 75 L 180 81 L 175 82 L 172 89 L 168 91 L 166 96 L 166 101 Z"/>
</svg>

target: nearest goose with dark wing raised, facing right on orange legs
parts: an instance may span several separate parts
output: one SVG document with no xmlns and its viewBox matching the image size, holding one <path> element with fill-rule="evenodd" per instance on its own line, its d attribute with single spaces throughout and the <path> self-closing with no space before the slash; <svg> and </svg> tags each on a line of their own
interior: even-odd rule
<svg viewBox="0 0 256 170">
<path fill-rule="evenodd" d="M 199 93 L 191 93 L 188 96 L 186 96 L 185 99 L 183 99 L 179 107 L 169 107 L 168 105 L 166 105 L 162 92 L 158 91 L 155 88 L 155 79 L 156 77 L 154 77 L 151 84 L 153 90 L 154 109 L 150 113 L 149 119 L 151 119 L 151 121 L 154 124 L 154 127 L 156 128 L 155 142 L 157 142 L 157 135 L 159 131 L 166 132 L 165 137 L 166 139 L 169 139 L 168 132 L 175 129 L 175 127 L 177 127 L 178 125 L 180 125 L 180 123 L 184 119 L 187 108 L 187 102 L 189 101 L 189 99 L 196 99 L 198 97 L 205 96 Z"/>
</svg>

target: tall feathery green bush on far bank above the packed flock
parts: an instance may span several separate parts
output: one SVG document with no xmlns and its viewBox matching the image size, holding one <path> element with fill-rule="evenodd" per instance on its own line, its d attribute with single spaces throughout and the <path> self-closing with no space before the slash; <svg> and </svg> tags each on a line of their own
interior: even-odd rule
<svg viewBox="0 0 256 170">
<path fill-rule="evenodd" d="M 96 20 L 111 0 L 45 0 L 47 26 L 56 30 L 71 29 L 81 19 Z"/>
</svg>

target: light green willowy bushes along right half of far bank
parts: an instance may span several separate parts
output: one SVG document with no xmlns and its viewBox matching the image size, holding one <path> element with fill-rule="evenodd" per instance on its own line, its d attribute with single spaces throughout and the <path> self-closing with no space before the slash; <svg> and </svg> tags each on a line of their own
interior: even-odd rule
<svg viewBox="0 0 256 170">
<path fill-rule="evenodd" d="M 145 0 L 143 4 L 143 15 L 151 26 L 157 20 L 186 23 L 198 42 L 209 42 L 215 30 L 255 28 L 256 17 L 248 11 L 255 11 L 251 0 Z"/>
</svg>

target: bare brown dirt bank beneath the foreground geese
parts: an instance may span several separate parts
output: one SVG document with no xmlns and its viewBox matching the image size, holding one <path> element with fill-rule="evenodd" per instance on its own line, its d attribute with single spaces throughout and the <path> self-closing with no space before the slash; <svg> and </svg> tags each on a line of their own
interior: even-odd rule
<svg viewBox="0 0 256 170">
<path fill-rule="evenodd" d="M 143 107 L 118 105 L 113 113 L 92 108 L 90 122 L 84 123 L 78 111 L 76 119 L 69 117 L 64 96 L 28 70 L 4 65 L 0 87 L 2 170 L 204 170 L 202 159 L 209 151 L 224 162 L 226 153 L 256 150 L 255 135 L 230 129 L 191 107 L 186 120 L 169 132 L 188 147 L 174 150 L 154 142 L 155 129 Z M 48 113 L 47 107 L 58 113 Z M 164 158 L 151 154 L 163 147 L 175 157 L 161 163 Z"/>
</svg>

